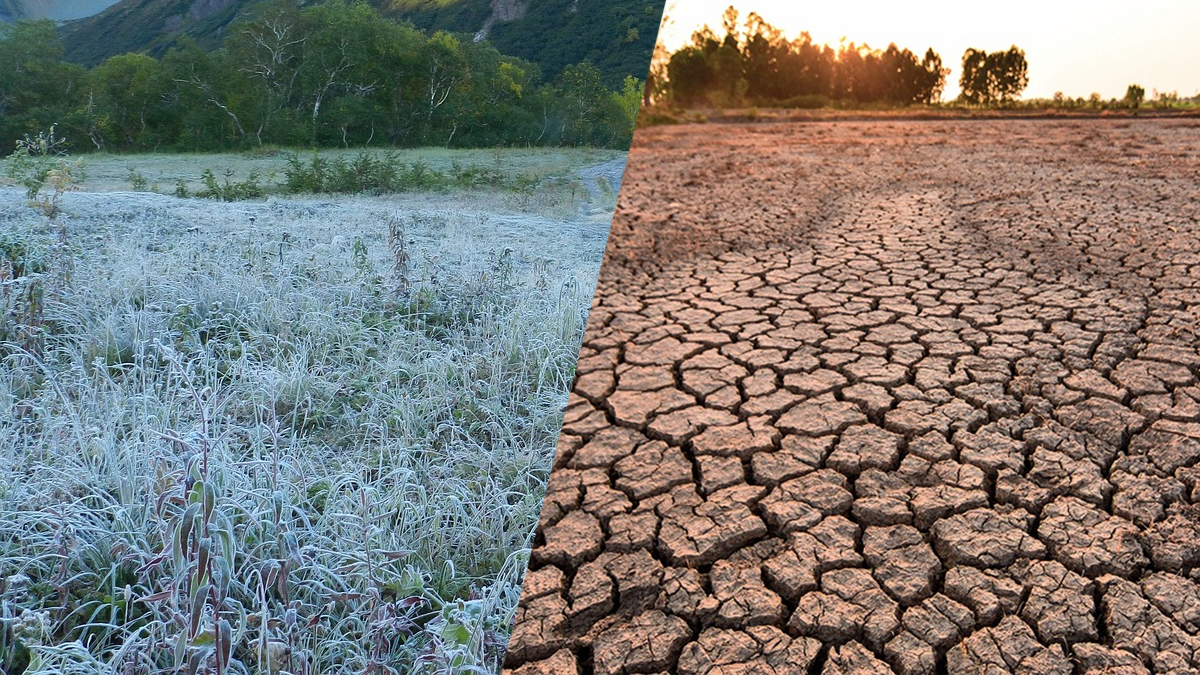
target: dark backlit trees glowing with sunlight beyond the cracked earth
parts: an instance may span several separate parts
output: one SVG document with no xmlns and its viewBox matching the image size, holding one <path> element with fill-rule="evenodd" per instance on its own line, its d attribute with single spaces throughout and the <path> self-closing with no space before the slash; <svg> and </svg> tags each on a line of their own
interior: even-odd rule
<svg viewBox="0 0 1200 675">
<path fill-rule="evenodd" d="M 722 28 L 724 37 L 703 26 L 674 53 L 660 46 L 648 95 L 679 107 L 928 104 L 938 102 L 950 72 L 932 49 L 920 56 L 894 43 L 834 49 L 808 32 L 788 40 L 755 12 L 739 25 L 734 7 L 725 11 Z M 964 73 L 964 102 L 974 104 L 1012 101 L 1028 83 L 1025 53 L 1015 46 L 992 54 L 968 49 Z"/>
</svg>

